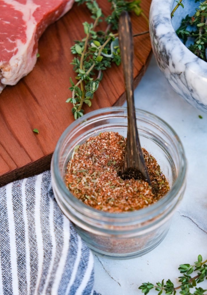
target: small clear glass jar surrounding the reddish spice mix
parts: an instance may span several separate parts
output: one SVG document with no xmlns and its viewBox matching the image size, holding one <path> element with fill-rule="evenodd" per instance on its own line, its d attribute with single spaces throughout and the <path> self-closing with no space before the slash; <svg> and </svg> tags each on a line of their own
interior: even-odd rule
<svg viewBox="0 0 207 295">
<path fill-rule="evenodd" d="M 127 136 L 124 107 L 99 109 L 74 121 L 61 135 L 51 161 L 53 191 L 63 213 L 89 248 L 111 258 L 134 258 L 159 245 L 186 186 L 186 158 L 178 135 L 149 112 L 136 109 L 136 117 L 140 143 L 157 160 L 171 188 L 156 203 L 132 212 L 102 212 L 78 200 L 65 185 L 66 166 L 75 146 L 104 131 Z"/>
</svg>

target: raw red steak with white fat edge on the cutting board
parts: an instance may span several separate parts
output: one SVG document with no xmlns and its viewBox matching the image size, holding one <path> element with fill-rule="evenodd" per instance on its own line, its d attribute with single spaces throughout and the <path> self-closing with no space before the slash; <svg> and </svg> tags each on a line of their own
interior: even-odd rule
<svg viewBox="0 0 207 295">
<path fill-rule="evenodd" d="M 0 93 L 34 67 L 38 40 L 74 0 L 0 0 Z"/>
</svg>

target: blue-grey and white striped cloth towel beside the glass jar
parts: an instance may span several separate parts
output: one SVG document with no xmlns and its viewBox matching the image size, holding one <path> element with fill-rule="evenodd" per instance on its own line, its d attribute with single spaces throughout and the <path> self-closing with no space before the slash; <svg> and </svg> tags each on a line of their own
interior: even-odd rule
<svg viewBox="0 0 207 295">
<path fill-rule="evenodd" d="M 0 295 L 96 294 L 93 256 L 63 215 L 50 171 L 0 188 Z"/>
</svg>

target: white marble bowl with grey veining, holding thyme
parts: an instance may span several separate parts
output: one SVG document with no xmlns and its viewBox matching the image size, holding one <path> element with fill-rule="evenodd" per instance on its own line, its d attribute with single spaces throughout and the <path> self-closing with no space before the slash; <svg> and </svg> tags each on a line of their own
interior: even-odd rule
<svg viewBox="0 0 207 295">
<path fill-rule="evenodd" d="M 172 88 L 191 105 L 207 112 L 207 63 L 196 57 L 179 39 L 175 30 L 187 14 L 193 15 L 194 0 L 183 1 L 171 19 L 175 0 L 152 0 L 149 30 L 157 64 Z"/>
</svg>

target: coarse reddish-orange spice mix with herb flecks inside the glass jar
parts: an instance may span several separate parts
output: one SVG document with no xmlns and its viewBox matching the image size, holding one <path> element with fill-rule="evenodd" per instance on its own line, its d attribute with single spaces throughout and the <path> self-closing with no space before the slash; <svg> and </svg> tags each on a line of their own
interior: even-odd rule
<svg viewBox="0 0 207 295">
<path fill-rule="evenodd" d="M 122 180 L 126 138 L 118 132 L 102 132 L 74 149 L 68 162 L 65 183 L 70 192 L 85 204 L 106 212 L 138 210 L 156 202 L 169 183 L 154 157 L 143 154 L 152 187 L 143 180 Z"/>
</svg>

